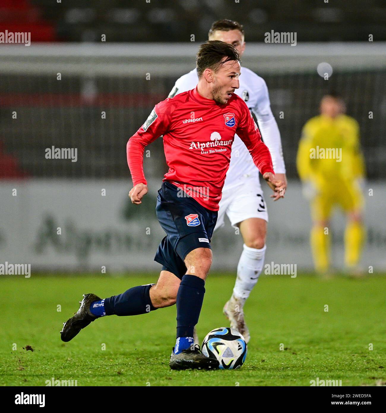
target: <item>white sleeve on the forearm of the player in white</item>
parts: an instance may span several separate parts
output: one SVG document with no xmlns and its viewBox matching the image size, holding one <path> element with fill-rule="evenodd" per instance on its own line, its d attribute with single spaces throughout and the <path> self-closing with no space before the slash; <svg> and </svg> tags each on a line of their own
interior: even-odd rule
<svg viewBox="0 0 386 413">
<path fill-rule="evenodd" d="M 275 173 L 286 173 L 282 140 L 280 138 L 280 132 L 275 118 L 272 118 L 267 122 L 259 122 L 259 129 L 261 135 L 263 136 L 264 143 L 270 151 Z"/>
</svg>

